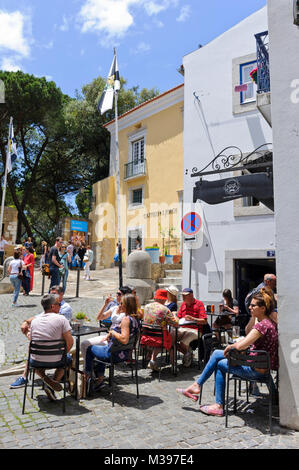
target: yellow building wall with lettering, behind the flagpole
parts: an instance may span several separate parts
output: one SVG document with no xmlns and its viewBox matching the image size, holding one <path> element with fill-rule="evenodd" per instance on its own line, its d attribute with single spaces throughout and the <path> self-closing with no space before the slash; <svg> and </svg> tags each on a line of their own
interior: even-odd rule
<svg viewBox="0 0 299 470">
<path fill-rule="evenodd" d="M 161 231 L 165 232 L 168 239 L 167 232 L 171 228 L 175 239 L 170 243 L 169 254 L 180 253 L 181 213 L 178 191 L 183 190 L 182 106 L 183 100 L 119 132 L 121 239 L 124 261 L 127 258 L 128 230 L 136 227 L 143 229 L 143 248 L 157 244 L 161 254 Z M 128 136 L 144 128 L 145 175 L 126 181 L 125 164 L 129 161 L 130 148 Z M 129 191 L 141 185 L 144 186 L 144 205 L 129 209 Z M 93 186 L 93 195 L 96 196 L 96 203 L 90 214 L 93 221 L 92 241 L 100 247 L 101 261 L 97 262 L 98 265 L 109 267 L 113 264 L 118 241 L 116 176 L 96 183 Z M 166 212 L 170 210 L 174 210 L 174 213 Z M 168 245 L 168 240 L 164 243 Z"/>
</svg>

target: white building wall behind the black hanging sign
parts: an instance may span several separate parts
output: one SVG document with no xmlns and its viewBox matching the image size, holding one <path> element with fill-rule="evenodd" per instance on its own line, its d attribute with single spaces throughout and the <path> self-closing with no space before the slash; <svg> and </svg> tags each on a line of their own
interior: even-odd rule
<svg viewBox="0 0 299 470">
<path fill-rule="evenodd" d="M 222 149 L 237 146 L 244 153 L 272 142 L 272 130 L 257 109 L 233 114 L 233 60 L 256 52 L 254 34 L 265 31 L 266 8 L 245 19 L 211 43 L 183 59 L 185 69 L 184 98 L 184 213 L 193 200 L 196 178 L 194 167 L 201 170 Z M 200 102 L 194 96 L 199 98 Z M 235 152 L 237 153 L 237 152 Z M 210 179 L 227 178 L 212 176 Z M 207 178 L 205 178 L 207 179 Z M 226 252 L 239 250 L 246 257 L 266 257 L 274 247 L 273 214 L 255 217 L 234 217 L 234 203 L 203 203 L 204 238 L 202 248 L 192 253 L 191 287 L 197 298 L 212 302 L 221 299 L 221 292 L 208 292 L 208 273 L 223 272 L 222 288 L 233 289 L 233 276 L 225 273 Z M 190 252 L 183 252 L 183 284 L 189 285 Z M 229 283 L 229 285 L 227 284 Z M 222 289 L 221 288 L 221 289 Z"/>
</svg>

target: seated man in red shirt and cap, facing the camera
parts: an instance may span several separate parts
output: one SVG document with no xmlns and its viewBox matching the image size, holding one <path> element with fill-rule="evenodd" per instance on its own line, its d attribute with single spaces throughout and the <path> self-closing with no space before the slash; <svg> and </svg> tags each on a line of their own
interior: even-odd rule
<svg viewBox="0 0 299 470">
<path fill-rule="evenodd" d="M 183 289 L 183 303 L 178 311 L 179 329 L 177 331 L 178 350 L 184 354 L 183 365 L 190 367 L 192 363 L 192 351 L 190 343 L 197 339 L 198 329 L 202 331 L 207 324 L 207 314 L 204 304 L 194 298 L 193 290 Z M 188 323 L 193 323 L 188 326 Z"/>
</svg>

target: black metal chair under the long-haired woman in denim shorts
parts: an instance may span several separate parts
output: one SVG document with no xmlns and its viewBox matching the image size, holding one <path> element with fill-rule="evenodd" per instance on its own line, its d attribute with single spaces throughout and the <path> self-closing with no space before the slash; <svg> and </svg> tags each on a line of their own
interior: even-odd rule
<svg viewBox="0 0 299 470">
<path fill-rule="evenodd" d="M 95 381 L 95 367 L 97 364 L 104 364 L 106 367 L 109 369 L 109 386 L 112 387 L 112 406 L 114 407 L 114 372 L 115 372 L 115 365 L 123 363 L 124 361 L 117 361 L 114 362 L 114 355 L 117 352 L 120 351 L 130 351 L 135 355 L 135 361 L 133 361 L 133 357 L 131 357 L 131 360 L 129 361 L 129 366 L 131 367 L 132 370 L 132 379 L 134 379 L 134 368 L 135 368 L 135 381 L 136 381 L 136 396 L 139 398 L 139 384 L 138 384 L 138 357 L 137 357 L 137 351 L 136 351 L 136 346 L 137 346 L 137 341 L 138 341 L 138 336 L 139 332 L 136 333 L 135 335 L 132 335 L 129 339 L 128 344 L 121 344 L 121 343 L 116 343 L 111 346 L 110 353 L 111 353 L 111 359 L 110 362 L 105 362 L 102 361 L 98 358 L 93 359 L 93 364 L 92 364 L 92 371 L 91 371 L 91 387 L 90 387 L 90 392 L 89 396 L 93 395 L 93 384 Z"/>
</svg>

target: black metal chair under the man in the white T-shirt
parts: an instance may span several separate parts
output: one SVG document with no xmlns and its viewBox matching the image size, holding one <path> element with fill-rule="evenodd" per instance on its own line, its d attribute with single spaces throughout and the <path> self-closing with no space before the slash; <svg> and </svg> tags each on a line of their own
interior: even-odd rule
<svg viewBox="0 0 299 470">
<path fill-rule="evenodd" d="M 61 360 L 58 362 L 41 362 L 31 360 L 31 356 L 61 356 Z M 35 377 L 35 370 L 42 369 L 42 370 L 49 370 L 49 369 L 64 369 L 64 377 L 63 377 L 63 400 L 62 400 L 62 410 L 65 413 L 65 397 L 66 397 L 66 378 L 67 378 L 67 347 L 66 342 L 64 340 L 42 340 L 42 341 L 35 341 L 31 340 L 29 344 L 29 353 L 28 353 L 28 360 L 27 360 L 27 372 L 26 372 L 26 385 L 24 389 L 24 398 L 23 398 L 23 408 L 22 414 L 25 412 L 25 403 L 26 403 L 26 394 L 27 394 L 27 386 L 28 386 L 28 379 L 29 374 L 31 378 L 32 374 L 32 389 L 31 389 L 31 398 L 33 398 L 34 392 L 34 377 Z M 44 384 L 43 384 L 44 387 Z"/>
</svg>

